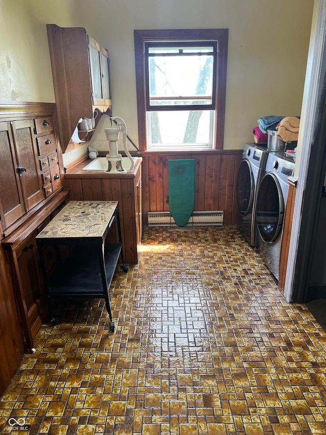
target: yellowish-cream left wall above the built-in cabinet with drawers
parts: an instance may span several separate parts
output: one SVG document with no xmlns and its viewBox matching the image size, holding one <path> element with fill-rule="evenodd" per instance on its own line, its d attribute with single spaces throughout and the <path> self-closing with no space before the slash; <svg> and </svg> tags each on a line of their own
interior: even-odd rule
<svg viewBox="0 0 326 435">
<path fill-rule="evenodd" d="M 0 0 L 0 100 L 55 101 L 46 23 L 76 19 L 74 0 Z"/>
</svg>

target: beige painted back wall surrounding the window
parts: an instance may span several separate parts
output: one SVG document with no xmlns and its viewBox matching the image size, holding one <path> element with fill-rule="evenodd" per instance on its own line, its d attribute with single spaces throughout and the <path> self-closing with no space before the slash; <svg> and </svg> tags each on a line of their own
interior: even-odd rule
<svg viewBox="0 0 326 435">
<path fill-rule="evenodd" d="M 137 139 L 134 29 L 228 28 L 225 148 L 264 115 L 300 115 L 313 0 L 78 0 L 79 23 L 110 52 L 113 109 Z M 104 140 L 101 130 L 93 140 Z"/>
</svg>

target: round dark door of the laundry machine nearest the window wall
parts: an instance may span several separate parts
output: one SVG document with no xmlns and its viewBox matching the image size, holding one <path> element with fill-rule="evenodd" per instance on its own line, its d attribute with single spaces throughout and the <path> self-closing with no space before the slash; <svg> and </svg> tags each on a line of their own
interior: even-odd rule
<svg viewBox="0 0 326 435">
<path fill-rule="evenodd" d="M 253 170 L 247 160 L 242 160 L 236 180 L 236 205 L 241 216 L 252 211 L 255 194 Z"/>
</svg>

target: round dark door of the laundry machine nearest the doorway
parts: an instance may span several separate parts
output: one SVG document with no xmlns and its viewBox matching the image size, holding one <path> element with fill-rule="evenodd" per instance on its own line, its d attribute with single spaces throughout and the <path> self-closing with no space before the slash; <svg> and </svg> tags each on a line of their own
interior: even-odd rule
<svg viewBox="0 0 326 435">
<path fill-rule="evenodd" d="M 284 200 L 280 183 L 273 173 L 263 176 L 256 201 L 258 230 L 265 243 L 273 243 L 282 231 Z"/>
</svg>

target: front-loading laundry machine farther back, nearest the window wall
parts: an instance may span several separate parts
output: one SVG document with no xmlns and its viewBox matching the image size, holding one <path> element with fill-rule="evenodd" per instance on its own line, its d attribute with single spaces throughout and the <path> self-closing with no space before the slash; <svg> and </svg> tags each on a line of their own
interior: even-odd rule
<svg viewBox="0 0 326 435">
<path fill-rule="evenodd" d="M 264 174 L 266 148 L 254 143 L 246 143 L 242 151 L 236 180 L 236 204 L 238 209 L 238 229 L 242 237 L 254 248 L 259 246 L 256 223 L 257 188 Z"/>
</svg>

